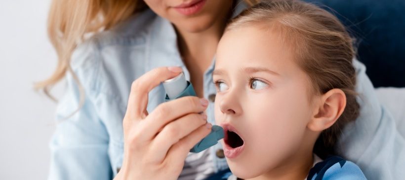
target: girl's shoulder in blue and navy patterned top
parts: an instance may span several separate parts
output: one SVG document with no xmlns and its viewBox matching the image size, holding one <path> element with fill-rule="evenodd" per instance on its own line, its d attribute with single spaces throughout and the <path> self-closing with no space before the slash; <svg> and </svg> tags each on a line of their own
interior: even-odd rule
<svg viewBox="0 0 405 180">
<path fill-rule="evenodd" d="M 330 156 L 310 170 L 307 180 L 366 180 L 366 178 L 355 163 L 339 156 Z"/>
</svg>

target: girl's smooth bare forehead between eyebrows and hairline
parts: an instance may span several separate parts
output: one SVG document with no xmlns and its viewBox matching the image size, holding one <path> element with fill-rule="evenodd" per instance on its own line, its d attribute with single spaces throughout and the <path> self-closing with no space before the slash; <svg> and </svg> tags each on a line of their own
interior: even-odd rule
<svg viewBox="0 0 405 180">
<path fill-rule="evenodd" d="M 228 31 L 218 45 L 216 67 L 285 69 L 284 66 L 289 66 L 294 57 L 289 44 L 282 39 L 280 33 L 255 27 Z"/>
</svg>

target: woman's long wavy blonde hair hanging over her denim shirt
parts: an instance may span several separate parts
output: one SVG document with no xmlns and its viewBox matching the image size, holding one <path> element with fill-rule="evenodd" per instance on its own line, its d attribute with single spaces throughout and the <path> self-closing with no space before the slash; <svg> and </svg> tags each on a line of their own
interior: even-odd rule
<svg viewBox="0 0 405 180">
<path fill-rule="evenodd" d="M 244 0 L 253 5 L 258 0 Z M 48 36 L 56 50 L 58 64 L 47 79 L 37 82 L 36 89 L 56 101 L 49 93 L 51 87 L 71 72 L 79 84 L 81 102 L 84 92 L 79 79 L 71 70 L 70 59 L 79 43 L 92 34 L 109 30 L 129 16 L 147 9 L 143 0 L 52 0 L 48 14 Z M 89 35 L 89 36 L 87 36 Z M 82 103 L 81 103 L 82 104 Z"/>
</svg>

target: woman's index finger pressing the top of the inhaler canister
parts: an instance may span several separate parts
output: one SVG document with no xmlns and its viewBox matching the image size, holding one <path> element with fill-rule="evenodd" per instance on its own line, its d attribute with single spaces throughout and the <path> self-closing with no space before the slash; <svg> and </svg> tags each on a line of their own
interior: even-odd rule
<svg viewBox="0 0 405 180">
<path fill-rule="evenodd" d="M 170 79 L 182 72 L 180 67 L 161 67 L 146 72 L 132 82 L 129 93 L 126 115 L 131 117 L 142 117 L 148 105 L 148 94 L 162 81 Z M 130 118 L 133 119 L 133 118 Z"/>
</svg>

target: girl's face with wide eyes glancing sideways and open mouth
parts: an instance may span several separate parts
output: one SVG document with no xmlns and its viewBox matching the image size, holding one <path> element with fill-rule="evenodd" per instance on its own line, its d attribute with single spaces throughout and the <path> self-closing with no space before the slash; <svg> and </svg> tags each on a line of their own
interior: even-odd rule
<svg viewBox="0 0 405 180">
<path fill-rule="evenodd" d="M 226 32 L 218 45 L 215 119 L 225 130 L 221 143 L 239 178 L 277 174 L 291 167 L 294 158 L 312 154 L 308 139 L 314 135 L 307 123 L 316 97 L 309 98 L 309 77 L 282 36 L 243 27 Z"/>
</svg>

